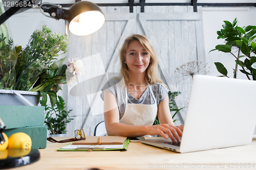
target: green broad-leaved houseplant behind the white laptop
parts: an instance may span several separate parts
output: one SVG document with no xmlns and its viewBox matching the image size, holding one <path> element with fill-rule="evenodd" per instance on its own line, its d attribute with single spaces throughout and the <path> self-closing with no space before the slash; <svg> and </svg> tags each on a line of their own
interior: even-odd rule
<svg viewBox="0 0 256 170">
<path fill-rule="evenodd" d="M 217 31 L 218 39 L 225 39 L 226 44 L 219 44 L 215 49 L 211 50 L 230 53 L 235 58 L 235 67 L 233 78 L 237 78 L 237 71 L 246 75 L 248 80 L 256 80 L 256 26 L 238 27 L 239 21 L 237 18 L 233 22 L 224 21 L 223 29 Z M 235 52 L 237 51 L 237 55 Z M 209 53 L 210 53 L 209 52 Z M 228 77 L 228 72 L 225 66 L 220 62 L 215 62 L 217 70 L 224 77 Z"/>
</svg>

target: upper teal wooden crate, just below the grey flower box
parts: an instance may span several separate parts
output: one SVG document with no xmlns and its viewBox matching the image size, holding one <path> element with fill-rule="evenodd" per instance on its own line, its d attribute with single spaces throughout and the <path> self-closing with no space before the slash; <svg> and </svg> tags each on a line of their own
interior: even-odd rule
<svg viewBox="0 0 256 170">
<path fill-rule="evenodd" d="M 6 129 L 41 126 L 45 122 L 45 107 L 0 105 L 0 117 Z"/>
</svg>

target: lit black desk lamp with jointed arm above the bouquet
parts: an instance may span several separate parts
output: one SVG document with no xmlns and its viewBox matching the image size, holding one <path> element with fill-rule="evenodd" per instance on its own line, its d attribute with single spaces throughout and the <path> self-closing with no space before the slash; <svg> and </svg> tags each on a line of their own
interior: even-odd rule
<svg viewBox="0 0 256 170">
<path fill-rule="evenodd" d="M 18 1 L 17 6 L 11 7 L 4 14 L 0 16 L 0 25 L 6 21 L 9 17 L 14 15 L 19 9 L 24 8 L 22 5 L 26 1 Z M 30 0 L 26 4 L 35 4 L 35 0 Z M 28 7 L 28 6 L 27 6 Z M 31 7 L 38 8 L 38 7 Z M 104 22 L 105 16 L 100 10 L 100 8 L 91 2 L 88 1 L 79 1 L 73 4 L 70 9 L 63 9 L 60 5 L 42 3 L 39 6 L 40 12 L 47 12 L 50 16 L 44 14 L 47 17 L 54 18 L 56 20 L 65 19 L 66 26 L 68 22 L 68 28 L 70 32 L 74 35 L 89 35 L 97 30 L 99 30 Z M 43 10 L 43 12 L 42 12 Z M 66 30 L 67 33 L 67 30 Z"/>
</svg>

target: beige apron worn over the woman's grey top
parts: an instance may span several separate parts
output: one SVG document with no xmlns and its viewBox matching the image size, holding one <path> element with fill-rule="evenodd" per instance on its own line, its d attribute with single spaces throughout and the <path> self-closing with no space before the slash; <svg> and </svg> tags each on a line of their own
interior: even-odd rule
<svg viewBox="0 0 256 170">
<path fill-rule="evenodd" d="M 155 103 L 153 105 L 143 104 L 129 104 L 127 99 L 127 89 L 125 88 L 126 105 L 123 117 L 119 120 L 119 123 L 126 125 L 153 125 L 157 116 L 157 102 L 153 91 L 150 88 L 151 94 Z"/>
</svg>

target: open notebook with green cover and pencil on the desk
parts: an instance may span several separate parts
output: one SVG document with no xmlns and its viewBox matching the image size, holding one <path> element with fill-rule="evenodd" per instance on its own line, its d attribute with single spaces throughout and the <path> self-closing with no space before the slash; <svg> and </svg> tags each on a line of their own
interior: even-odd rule
<svg viewBox="0 0 256 170">
<path fill-rule="evenodd" d="M 127 150 L 129 141 L 129 138 L 124 136 L 86 136 L 86 140 L 74 141 L 65 147 L 61 147 L 57 151 Z"/>
</svg>

